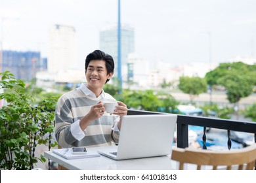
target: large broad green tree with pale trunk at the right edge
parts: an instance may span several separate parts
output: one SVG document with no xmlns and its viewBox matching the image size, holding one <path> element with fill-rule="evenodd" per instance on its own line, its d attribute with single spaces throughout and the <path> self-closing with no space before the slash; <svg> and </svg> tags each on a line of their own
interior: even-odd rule
<svg viewBox="0 0 256 183">
<path fill-rule="evenodd" d="M 251 95 L 256 84 L 256 65 L 247 65 L 241 61 L 221 63 L 219 67 L 205 75 L 208 84 L 224 86 L 227 99 L 234 104 L 238 120 L 240 99 Z"/>
</svg>

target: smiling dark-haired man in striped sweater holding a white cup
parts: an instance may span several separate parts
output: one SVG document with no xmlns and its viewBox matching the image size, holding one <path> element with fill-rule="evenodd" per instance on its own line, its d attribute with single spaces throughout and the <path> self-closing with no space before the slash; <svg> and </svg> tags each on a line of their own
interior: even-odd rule
<svg viewBox="0 0 256 183">
<path fill-rule="evenodd" d="M 127 107 L 118 101 L 114 115 L 106 114 L 101 101 L 115 100 L 103 90 L 114 74 L 112 56 L 95 50 L 85 59 L 87 84 L 58 99 L 55 136 L 59 146 L 109 146 L 118 142 Z"/>
</svg>

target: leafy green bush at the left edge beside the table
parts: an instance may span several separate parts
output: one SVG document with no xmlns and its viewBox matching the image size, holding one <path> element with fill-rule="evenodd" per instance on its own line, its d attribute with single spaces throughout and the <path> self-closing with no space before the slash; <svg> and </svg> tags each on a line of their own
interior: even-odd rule
<svg viewBox="0 0 256 183">
<path fill-rule="evenodd" d="M 37 107 L 35 99 L 25 92 L 22 80 L 16 80 L 9 71 L 0 73 L 0 99 L 7 105 L 0 108 L 1 169 L 33 169 L 33 165 L 46 159 L 35 157 L 39 144 L 49 144 L 54 131 L 56 98 L 45 99 Z"/>
</svg>

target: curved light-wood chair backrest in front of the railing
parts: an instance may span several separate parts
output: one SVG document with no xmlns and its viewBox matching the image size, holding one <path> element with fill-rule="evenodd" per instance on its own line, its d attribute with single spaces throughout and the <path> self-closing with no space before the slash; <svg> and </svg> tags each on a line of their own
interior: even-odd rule
<svg viewBox="0 0 256 183">
<path fill-rule="evenodd" d="M 245 148 L 215 151 L 199 150 L 192 148 L 173 147 L 171 159 L 179 161 L 179 169 L 184 169 L 184 163 L 197 165 L 197 169 L 202 169 L 203 165 L 210 165 L 213 169 L 234 169 L 233 165 L 238 165 L 238 169 L 251 169 L 255 167 L 256 143 Z"/>
</svg>

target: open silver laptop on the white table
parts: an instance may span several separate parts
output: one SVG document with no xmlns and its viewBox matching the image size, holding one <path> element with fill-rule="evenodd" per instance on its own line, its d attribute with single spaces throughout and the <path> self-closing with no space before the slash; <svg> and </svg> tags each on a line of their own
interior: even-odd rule
<svg viewBox="0 0 256 183">
<path fill-rule="evenodd" d="M 118 146 L 100 148 L 112 159 L 133 159 L 171 154 L 177 114 L 123 116 Z"/>
</svg>

